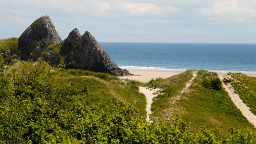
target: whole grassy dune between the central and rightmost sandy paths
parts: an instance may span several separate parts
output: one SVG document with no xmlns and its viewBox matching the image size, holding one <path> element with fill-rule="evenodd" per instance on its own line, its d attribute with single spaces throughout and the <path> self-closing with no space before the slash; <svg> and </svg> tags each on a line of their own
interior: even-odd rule
<svg viewBox="0 0 256 144">
<path fill-rule="evenodd" d="M 175 77 L 178 77 L 179 81 L 168 82 Z M 222 88 L 216 73 L 200 70 L 188 92 L 180 93 L 185 87 L 185 82 L 191 77 L 192 71 L 186 71 L 168 79 L 150 82 L 156 83 L 164 93 L 159 94 L 152 104 L 154 116 L 172 119 L 172 113 L 179 114 L 184 121 L 191 123 L 193 131 L 202 125 L 218 126 L 225 130 L 229 126 L 248 126 L 255 131 L 253 125 L 236 108 L 228 93 Z"/>
</svg>

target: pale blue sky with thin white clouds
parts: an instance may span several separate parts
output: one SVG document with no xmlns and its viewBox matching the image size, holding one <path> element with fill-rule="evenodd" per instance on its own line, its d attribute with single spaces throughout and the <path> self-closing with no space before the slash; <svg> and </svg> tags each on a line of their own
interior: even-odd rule
<svg viewBox="0 0 256 144">
<path fill-rule="evenodd" d="M 0 0 L 0 39 L 48 15 L 99 42 L 256 43 L 255 0 Z"/>
</svg>

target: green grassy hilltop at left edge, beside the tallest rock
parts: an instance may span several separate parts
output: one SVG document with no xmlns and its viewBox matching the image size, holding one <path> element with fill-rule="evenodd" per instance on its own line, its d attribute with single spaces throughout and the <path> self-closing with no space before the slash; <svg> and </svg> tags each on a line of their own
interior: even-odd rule
<svg viewBox="0 0 256 144">
<path fill-rule="evenodd" d="M 19 38 L 9 38 L 9 39 L 1 39 L 0 40 L 0 51 L 6 51 L 8 49 L 11 50 L 11 52 L 17 52 L 18 51 L 18 41 Z"/>
</svg>

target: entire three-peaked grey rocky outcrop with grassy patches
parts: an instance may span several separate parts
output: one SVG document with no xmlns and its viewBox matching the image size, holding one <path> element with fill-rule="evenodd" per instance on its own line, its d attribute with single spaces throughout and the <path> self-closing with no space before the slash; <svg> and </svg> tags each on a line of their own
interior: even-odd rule
<svg viewBox="0 0 256 144">
<path fill-rule="evenodd" d="M 64 62 L 70 64 L 67 68 L 107 72 L 116 76 L 133 75 L 119 68 L 88 31 L 81 35 L 75 28 L 62 41 L 50 18 L 46 15 L 35 20 L 22 33 L 17 49 L 17 55 L 21 60 L 36 61 L 42 57 L 51 65 Z M 5 56 L 10 53 L 9 51 L 2 53 Z"/>
</svg>

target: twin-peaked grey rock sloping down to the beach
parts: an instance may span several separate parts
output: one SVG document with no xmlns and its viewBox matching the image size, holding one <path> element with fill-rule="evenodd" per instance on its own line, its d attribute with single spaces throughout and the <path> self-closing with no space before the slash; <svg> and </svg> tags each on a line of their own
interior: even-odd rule
<svg viewBox="0 0 256 144">
<path fill-rule="evenodd" d="M 72 63 L 69 67 L 108 72 L 116 76 L 133 75 L 111 61 L 106 51 L 88 31 L 81 36 L 78 30 L 74 29 L 66 40 L 73 46 L 72 52 L 66 59 L 66 63 Z"/>
</svg>

